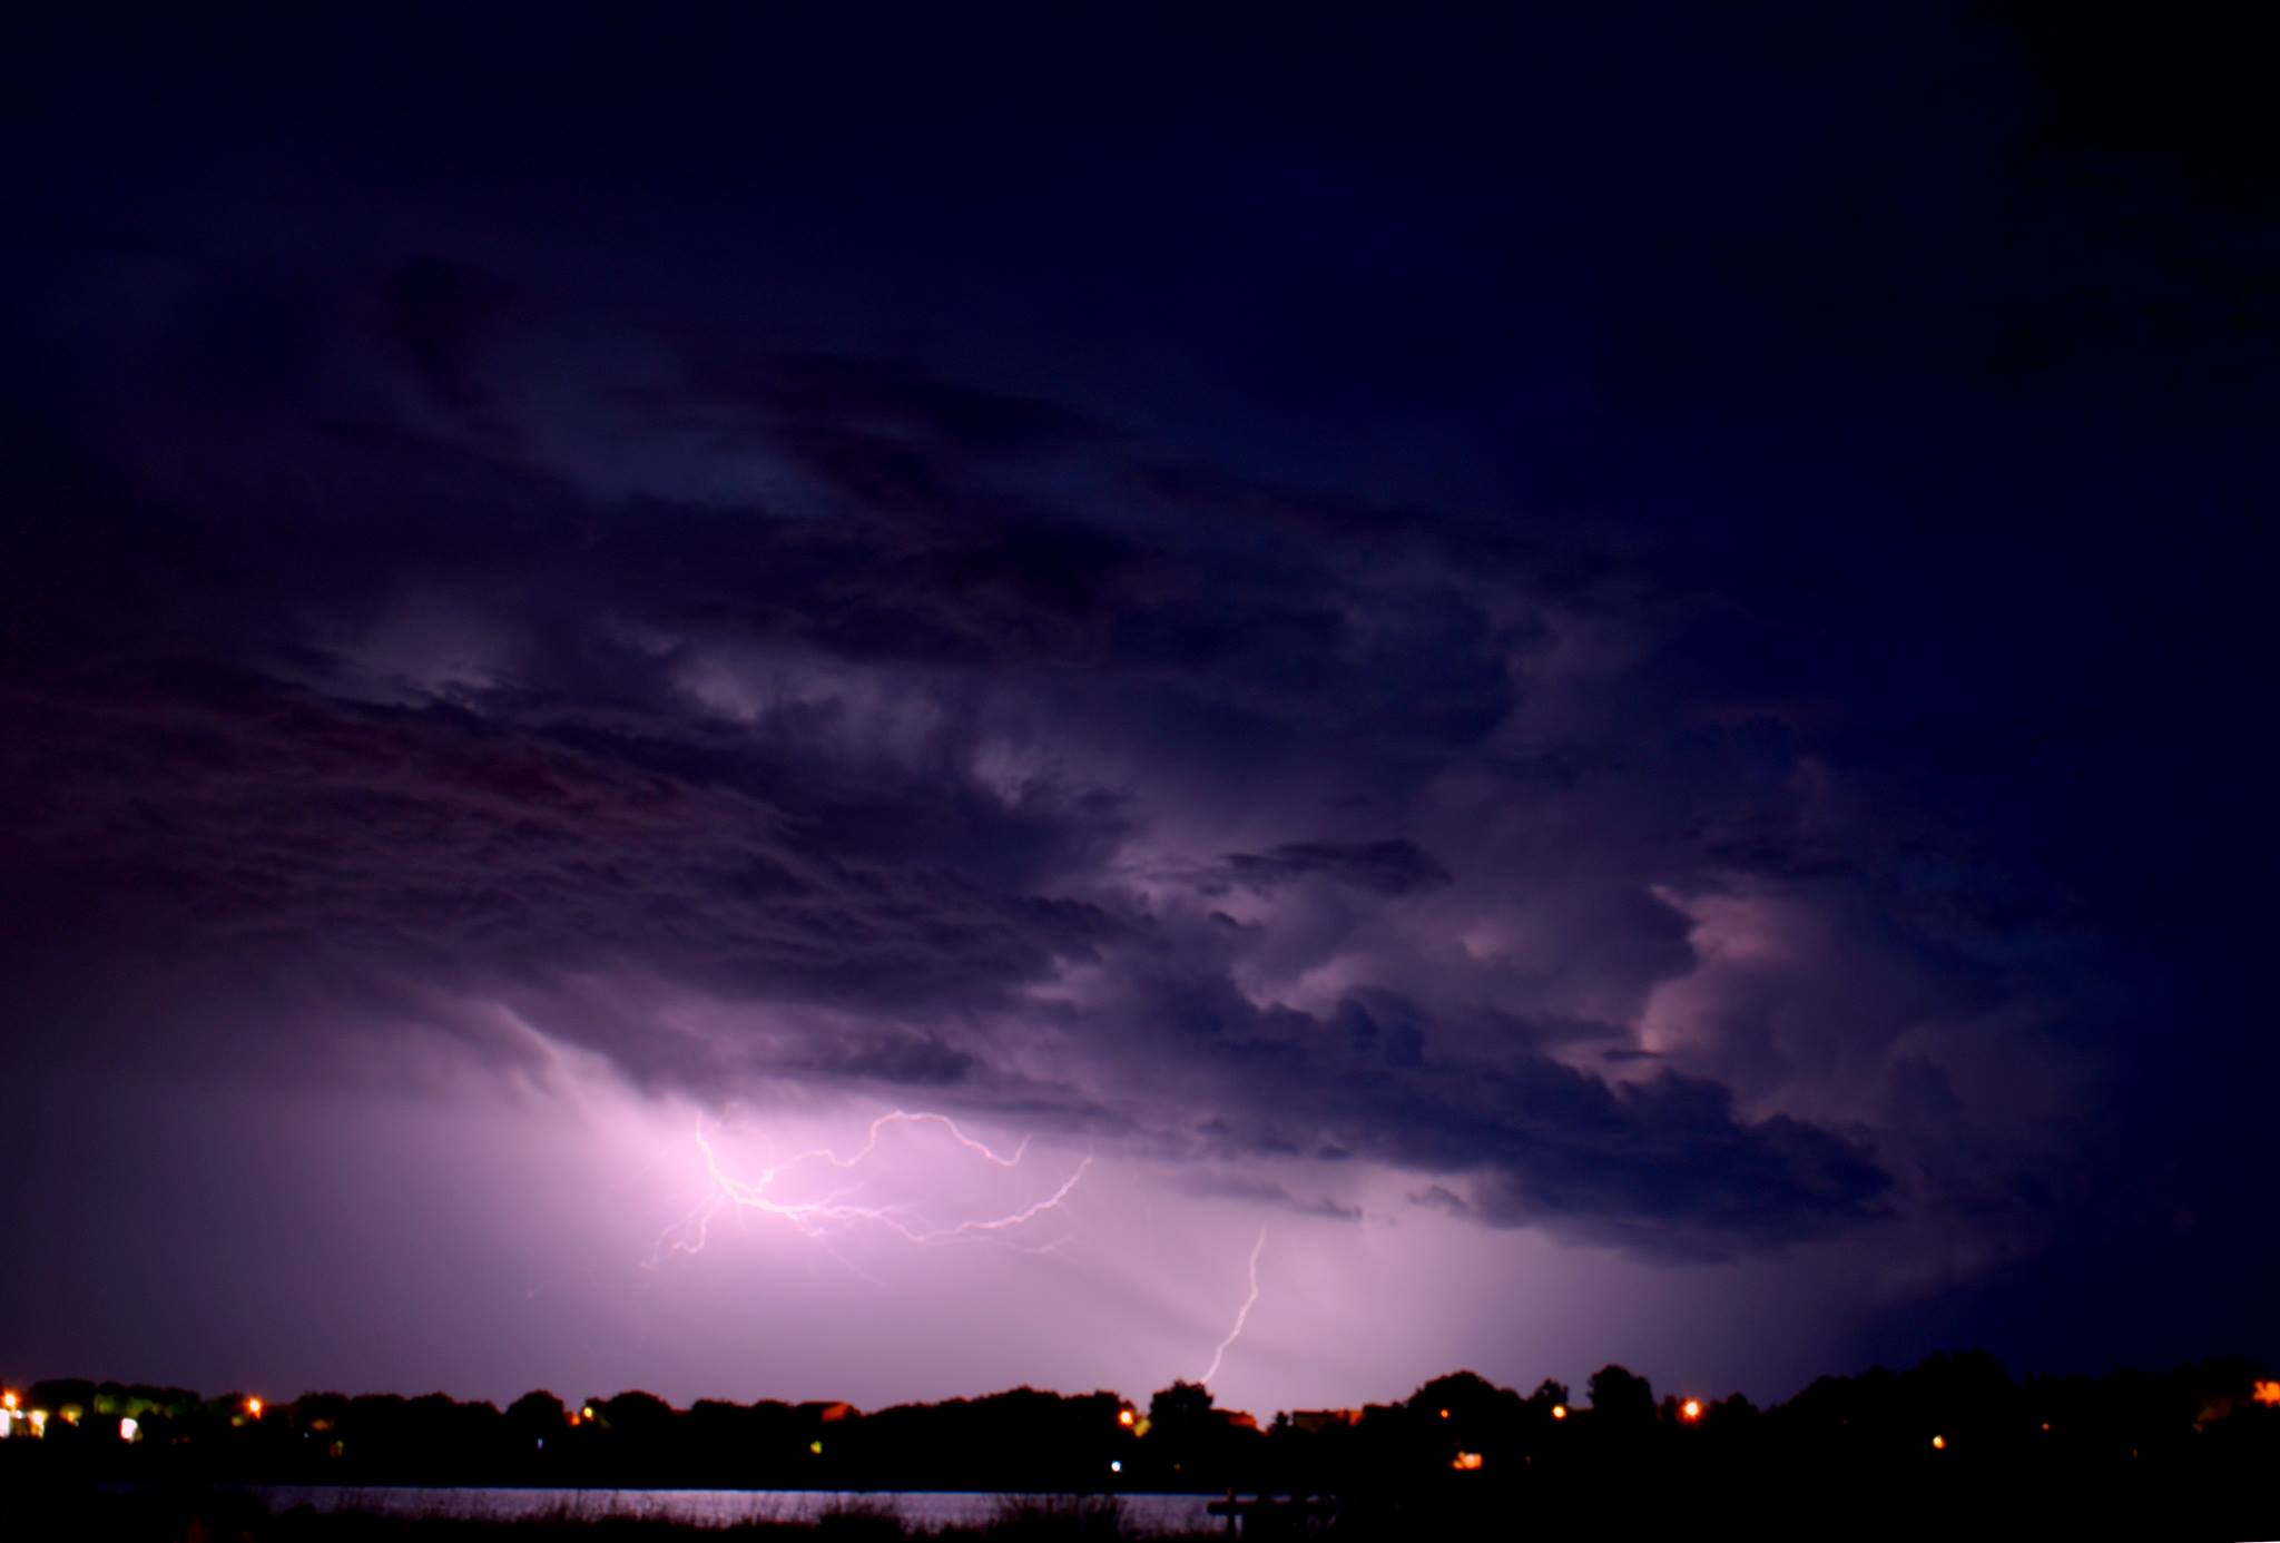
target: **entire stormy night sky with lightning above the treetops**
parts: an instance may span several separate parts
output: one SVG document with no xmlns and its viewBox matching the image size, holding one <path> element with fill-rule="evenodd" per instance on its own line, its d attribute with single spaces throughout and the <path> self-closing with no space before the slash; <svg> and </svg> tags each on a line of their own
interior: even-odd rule
<svg viewBox="0 0 2280 1543">
<path fill-rule="evenodd" d="M 2246 34 L 48 9 L 9 1379 L 2280 1356 Z"/>
</svg>

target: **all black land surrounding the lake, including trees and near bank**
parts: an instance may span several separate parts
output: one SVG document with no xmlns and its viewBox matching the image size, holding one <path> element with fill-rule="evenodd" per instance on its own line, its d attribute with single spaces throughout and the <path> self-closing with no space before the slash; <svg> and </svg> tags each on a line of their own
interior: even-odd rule
<svg viewBox="0 0 2280 1543">
<path fill-rule="evenodd" d="M 0 1443 L 0 1520 L 30 1536 L 331 1538 L 666 1536 L 686 1532 L 1129 1538 L 1197 1520 L 1149 1497 L 1329 1495 L 1263 1509 L 1247 1536 L 1503 1538 L 1694 1532 L 1746 1518 L 1756 1538 L 2280 1536 L 2280 1381 L 2246 1361 L 2102 1379 L 2011 1377 L 1990 1356 L 1824 1377 L 1756 1409 L 1664 1395 L 1619 1365 L 1587 1404 L 1471 1372 L 1400 1404 L 1286 1411 L 1268 1427 L 1172 1383 L 1115 1393 L 1012 1388 L 978 1399 L 675 1409 L 648 1393 L 506 1411 L 442 1395 L 201 1399 L 123 1383 L 32 1383 L 32 1440 Z M 406 1516 L 388 1495 L 438 1493 Z M 445 1513 L 449 1497 L 534 1495 L 538 1516 Z M 597 1516 L 595 1497 L 784 1497 L 782 1513 Z M 964 1495 L 990 1509 L 898 1497 Z M 358 1497 L 372 1504 L 358 1507 Z M 798 1500 L 796 1500 L 798 1497 Z M 814 1509 L 816 1497 L 828 1497 Z M 846 1500 L 839 1500 L 846 1497 Z M 315 1504 L 296 1504 L 315 1500 Z M 351 1507 L 351 1509 L 342 1509 Z"/>
</svg>

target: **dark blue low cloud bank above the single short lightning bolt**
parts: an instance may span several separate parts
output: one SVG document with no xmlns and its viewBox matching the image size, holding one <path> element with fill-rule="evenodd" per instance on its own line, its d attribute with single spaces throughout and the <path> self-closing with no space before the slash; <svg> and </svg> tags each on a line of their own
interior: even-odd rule
<svg viewBox="0 0 2280 1543">
<path fill-rule="evenodd" d="M 1427 1190 L 1448 1199 L 1420 1203 L 1491 1226 L 1717 1258 L 1886 1213 L 1892 1181 L 1858 1140 L 1740 1117 L 1717 1083 L 1667 1069 L 1610 1085 L 1548 1053 L 1575 1026 L 1498 1019 L 1461 1035 L 1382 1023 L 1386 1007 L 1345 1001 L 1322 1021 L 1259 1010 L 1222 982 L 1151 980 L 1126 1005 L 1126 1032 L 1176 1069 L 1197 1108 L 1215 1110 L 1167 1140 L 1245 1160 L 1332 1146 L 1464 1174 Z M 1129 1064 L 1124 1078 L 1147 1085 L 1151 1073 Z"/>
</svg>

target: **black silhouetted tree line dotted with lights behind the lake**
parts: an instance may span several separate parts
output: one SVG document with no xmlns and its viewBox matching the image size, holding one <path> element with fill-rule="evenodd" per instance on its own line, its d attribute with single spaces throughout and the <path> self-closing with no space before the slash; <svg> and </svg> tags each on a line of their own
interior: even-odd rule
<svg viewBox="0 0 2280 1543">
<path fill-rule="evenodd" d="M 1227 1491 L 1332 1495 L 1347 1532 L 1461 1529 L 1525 1511 L 1575 1525 L 1769 1507 L 1879 1536 L 1970 1520 L 2047 1534 L 2120 1525 L 2273 1536 L 2280 1386 L 2246 1361 L 2166 1374 L 2013 1381 L 1986 1354 L 1908 1372 L 1824 1377 L 1785 1404 L 1655 1397 L 1598 1370 L 1582 1402 L 1473 1372 L 1400 1404 L 1295 1411 L 1261 1429 L 1208 1388 L 1147 1406 L 1115 1393 L 1015 1388 L 901 1404 L 673 1409 L 648 1393 L 504 1411 L 442 1395 L 310 1393 L 260 1406 L 182 1388 L 48 1381 L 43 1440 L 0 1443 L 0 1475 L 269 1484 L 522 1484 L 707 1488 Z M 121 1438 L 135 1420 L 137 1440 Z"/>
</svg>

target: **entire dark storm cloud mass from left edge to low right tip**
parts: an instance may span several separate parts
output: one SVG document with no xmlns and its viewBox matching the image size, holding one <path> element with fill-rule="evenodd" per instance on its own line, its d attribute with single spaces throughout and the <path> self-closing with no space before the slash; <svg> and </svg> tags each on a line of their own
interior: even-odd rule
<svg viewBox="0 0 2280 1543">
<path fill-rule="evenodd" d="M 164 531 L 171 554 L 109 595 L 21 595 L 39 620 L 11 686 L 11 857 L 59 907 L 148 912 L 258 969 L 506 991 L 632 1076 L 698 1089 L 960 1087 L 1179 1146 L 1167 1112 L 1204 1087 L 1222 1128 L 1206 1160 L 1336 1151 L 1466 1174 L 1482 1222 L 1646 1251 L 1872 1215 L 1886 1181 L 1838 1135 L 1740 1119 L 1710 1083 L 1610 1085 L 1553 1060 L 1614 1026 L 1550 1010 L 1452 1028 L 1400 994 L 1416 973 L 1400 957 L 1377 962 L 1393 989 L 1329 1017 L 1256 1007 L 1229 973 L 1156 978 L 1190 948 L 1186 916 L 1231 889 L 1327 880 L 1370 914 L 1452 893 L 1411 836 L 1192 855 L 1163 868 L 1154 919 L 1104 864 L 1183 818 L 1183 798 L 1236 791 L 1211 736 L 1284 761 L 1316 818 L 1357 798 L 1411 818 L 1420 782 L 1514 711 L 1514 661 L 1555 643 L 1523 549 L 1484 590 L 1430 522 L 1420 545 L 1297 495 L 1254 490 L 1259 517 L 1158 481 L 1142 524 L 1085 517 L 999 472 L 1017 447 L 1108 442 L 1078 415 L 921 390 L 876 360 L 777 358 L 746 378 L 759 442 L 825 508 L 604 499 L 477 422 L 492 392 L 474 296 L 504 285 L 433 264 L 390 283 L 417 342 L 404 369 L 467 442 L 287 426 L 299 485 L 249 497 L 217 438 L 198 454 L 226 508 L 164 508 L 132 472 L 98 504 L 100 479 L 52 456 L 46 492 L 78 499 L 62 547 L 82 572 L 130 529 Z M 627 422 L 677 431 L 654 403 Z M 1386 542 L 1400 561 L 1379 561 Z M 1573 593 L 1566 574 L 1544 588 Z M 128 604 L 171 618 L 180 652 L 150 659 Z M 978 768 L 1008 722 L 1017 745 L 1042 732 L 1078 761 L 992 784 Z M 1085 770 L 1088 748 L 1135 738 L 1204 784 Z M 1644 921 L 1664 925 L 1655 907 Z M 1192 966 L 1336 950 L 1373 923 L 1325 925 Z M 1072 966 L 1131 985 L 1060 1021 L 1021 1007 Z M 581 1001 L 579 980 L 613 973 L 762 1005 L 766 1026 L 661 1032 Z M 1503 1048 L 1466 1048 L 1482 1037 Z M 1094 1087 L 1117 1042 L 1163 1048 L 1161 1076 Z M 1053 1080 L 1015 1073 L 1024 1046 Z"/>
</svg>

